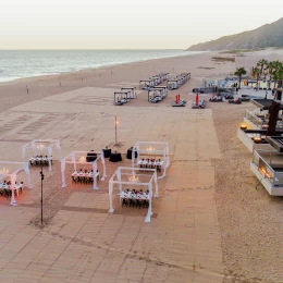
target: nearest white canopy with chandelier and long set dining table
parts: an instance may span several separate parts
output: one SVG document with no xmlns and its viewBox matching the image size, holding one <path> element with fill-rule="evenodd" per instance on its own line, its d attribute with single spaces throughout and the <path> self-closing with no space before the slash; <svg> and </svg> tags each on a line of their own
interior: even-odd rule
<svg viewBox="0 0 283 283">
<path fill-rule="evenodd" d="M 109 180 L 109 200 L 110 209 L 109 212 L 113 213 L 113 187 L 119 185 L 119 196 L 122 204 L 123 199 L 131 199 L 135 201 L 148 201 L 148 212 L 145 222 L 150 222 L 152 216 L 152 196 L 153 196 L 153 184 L 155 184 L 155 197 L 159 197 L 158 193 L 158 177 L 156 169 L 146 169 L 145 172 L 140 173 L 139 168 L 125 168 L 119 167 L 115 173 Z M 123 185 L 127 187 L 145 187 L 146 192 L 140 189 L 139 192 L 132 192 L 128 188 L 123 189 Z"/>
</svg>

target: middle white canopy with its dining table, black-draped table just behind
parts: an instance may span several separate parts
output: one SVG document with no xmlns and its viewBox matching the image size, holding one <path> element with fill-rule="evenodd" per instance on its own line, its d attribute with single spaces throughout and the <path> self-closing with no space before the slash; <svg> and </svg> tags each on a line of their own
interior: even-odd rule
<svg viewBox="0 0 283 283">
<path fill-rule="evenodd" d="M 91 177 L 94 180 L 94 189 L 98 189 L 97 187 L 97 177 L 99 177 L 99 172 L 97 169 L 97 162 L 100 161 L 102 164 L 102 177 L 101 181 L 106 179 L 106 162 L 104 156 L 102 151 L 73 151 L 69 153 L 65 158 L 61 159 L 61 174 L 62 174 L 62 187 L 66 187 L 65 184 L 65 165 L 73 164 L 74 172 L 72 173 L 72 177 Z M 77 171 L 77 165 L 90 165 L 91 171 Z"/>
</svg>

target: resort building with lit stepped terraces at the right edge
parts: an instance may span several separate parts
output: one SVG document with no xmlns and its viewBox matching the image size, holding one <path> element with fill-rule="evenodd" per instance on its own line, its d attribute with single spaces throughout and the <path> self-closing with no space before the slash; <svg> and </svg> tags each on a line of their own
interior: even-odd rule
<svg viewBox="0 0 283 283">
<path fill-rule="evenodd" d="M 282 94 L 282 93 L 280 93 Z M 237 132 L 238 138 L 253 152 L 250 170 L 271 196 L 283 196 L 283 114 L 278 115 L 275 135 L 268 136 L 269 107 L 280 99 L 253 99 L 258 107 L 245 111 L 244 123 Z"/>
</svg>

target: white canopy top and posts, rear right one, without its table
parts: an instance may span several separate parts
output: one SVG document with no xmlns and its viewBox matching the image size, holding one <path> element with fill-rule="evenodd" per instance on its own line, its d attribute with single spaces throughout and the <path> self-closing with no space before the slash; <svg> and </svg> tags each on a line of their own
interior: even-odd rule
<svg viewBox="0 0 283 283">
<path fill-rule="evenodd" d="M 135 152 L 137 152 L 136 159 Z M 162 179 L 167 175 L 167 169 L 170 165 L 169 146 L 167 142 L 137 142 L 132 150 L 133 168 L 138 167 L 143 156 L 147 158 L 160 157 L 163 174 L 158 179 Z"/>
</svg>

